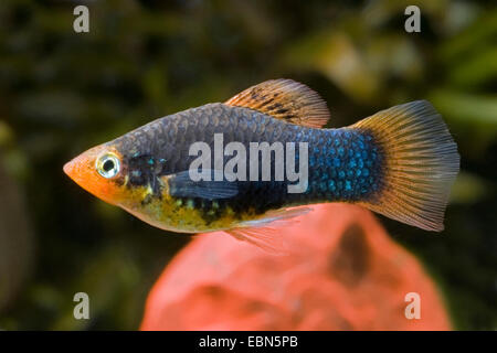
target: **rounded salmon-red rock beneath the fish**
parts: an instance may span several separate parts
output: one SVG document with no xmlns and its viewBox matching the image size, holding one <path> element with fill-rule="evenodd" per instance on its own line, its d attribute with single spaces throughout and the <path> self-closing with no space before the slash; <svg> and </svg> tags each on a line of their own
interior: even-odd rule
<svg viewBox="0 0 497 353">
<path fill-rule="evenodd" d="M 193 239 L 151 290 L 141 330 L 450 330 L 419 261 L 359 206 L 322 204 L 282 227 L 290 255 L 224 233 Z M 421 297 L 406 319 L 404 297 Z"/>
</svg>

